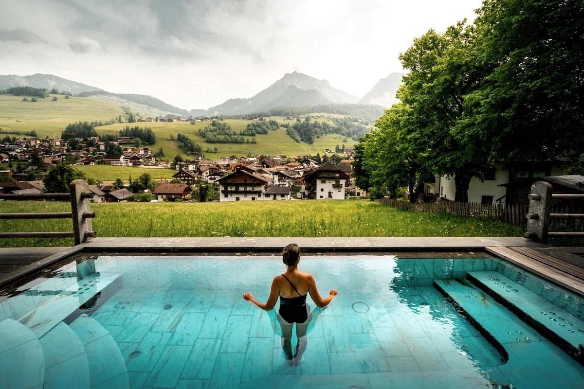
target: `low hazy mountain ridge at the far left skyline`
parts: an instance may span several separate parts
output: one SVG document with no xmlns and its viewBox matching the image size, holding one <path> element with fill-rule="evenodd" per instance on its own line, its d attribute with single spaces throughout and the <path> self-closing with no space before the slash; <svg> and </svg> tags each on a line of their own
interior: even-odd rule
<svg viewBox="0 0 584 389">
<path fill-rule="evenodd" d="M 85 85 L 79 82 L 67 80 L 51 74 L 33 74 L 30 76 L 0 75 L 0 89 L 13 86 L 32 86 L 34 88 L 57 89 L 59 92 L 78 94 L 90 90 L 102 90 L 95 86 Z"/>
</svg>

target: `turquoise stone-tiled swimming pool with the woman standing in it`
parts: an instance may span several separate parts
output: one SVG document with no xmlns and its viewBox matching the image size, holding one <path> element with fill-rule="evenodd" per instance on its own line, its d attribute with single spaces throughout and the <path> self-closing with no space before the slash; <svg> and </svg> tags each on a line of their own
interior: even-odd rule
<svg viewBox="0 0 584 389">
<path fill-rule="evenodd" d="M 274 311 L 241 298 L 267 299 L 284 270 L 279 257 L 100 255 L 61 264 L 0 296 L 0 387 L 584 382 L 582 298 L 504 260 L 314 255 L 300 269 L 322 294 L 340 294 L 324 310 L 309 297 L 305 359 L 288 366 Z"/>
</svg>

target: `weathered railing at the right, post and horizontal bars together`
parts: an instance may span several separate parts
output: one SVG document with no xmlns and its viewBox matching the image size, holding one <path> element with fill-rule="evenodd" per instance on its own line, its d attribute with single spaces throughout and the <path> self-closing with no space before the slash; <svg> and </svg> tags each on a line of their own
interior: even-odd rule
<svg viewBox="0 0 584 389">
<path fill-rule="evenodd" d="M 584 194 L 552 193 L 549 183 L 537 182 L 531 185 L 529 213 L 527 213 L 527 239 L 547 244 L 548 238 L 583 238 L 584 232 L 548 232 L 552 220 L 584 220 L 584 213 L 552 213 L 552 200 L 580 200 Z"/>
</svg>

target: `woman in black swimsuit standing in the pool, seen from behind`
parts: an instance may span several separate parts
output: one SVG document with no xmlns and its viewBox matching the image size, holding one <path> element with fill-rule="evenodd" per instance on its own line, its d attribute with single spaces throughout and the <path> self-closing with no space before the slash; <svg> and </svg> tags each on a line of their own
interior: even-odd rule
<svg viewBox="0 0 584 389">
<path fill-rule="evenodd" d="M 244 299 L 248 300 L 263 310 L 270 311 L 276 305 L 276 300 L 280 296 L 280 309 L 277 319 L 282 328 L 282 348 L 288 365 L 298 365 L 301 362 L 302 354 L 307 345 L 306 333 L 308 324 L 312 320 L 312 312 L 306 303 L 306 296 L 310 297 L 318 307 L 327 306 L 339 292 L 331 289 L 329 296 L 322 299 L 318 293 L 317 284 L 312 275 L 298 270 L 300 262 L 300 247 L 297 244 L 288 244 L 282 251 L 282 261 L 286 264 L 286 271 L 274 277 L 272 289 L 267 302 L 262 304 L 253 298 L 251 292 L 245 293 Z M 292 327 L 296 323 L 296 353 L 292 352 Z"/>
</svg>

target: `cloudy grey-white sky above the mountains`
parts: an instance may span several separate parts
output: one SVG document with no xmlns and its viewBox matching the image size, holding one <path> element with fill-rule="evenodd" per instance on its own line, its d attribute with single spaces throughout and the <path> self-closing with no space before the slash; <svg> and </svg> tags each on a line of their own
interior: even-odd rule
<svg viewBox="0 0 584 389">
<path fill-rule="evenodd" d="M 297 71 L 362 97 L 480 0 L 1 0 L 0 74 L 48 73 L 180 108 Z"/>
</svg>

